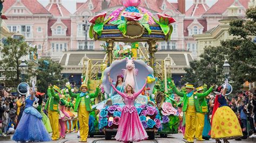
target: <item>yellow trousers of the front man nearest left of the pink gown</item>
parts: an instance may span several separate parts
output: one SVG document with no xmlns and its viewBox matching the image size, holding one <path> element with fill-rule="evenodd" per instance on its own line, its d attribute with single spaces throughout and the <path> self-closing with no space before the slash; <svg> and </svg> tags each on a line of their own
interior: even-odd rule
<svg viewBox="0 0 256 143">
<path fill-rule="evenodd" d="M 86 110 L 85 105 L 79 105 L 78 120 L 80 125 L 80 140 L 87 141 L 89 133 L 89 112 Z"/>
</svg>

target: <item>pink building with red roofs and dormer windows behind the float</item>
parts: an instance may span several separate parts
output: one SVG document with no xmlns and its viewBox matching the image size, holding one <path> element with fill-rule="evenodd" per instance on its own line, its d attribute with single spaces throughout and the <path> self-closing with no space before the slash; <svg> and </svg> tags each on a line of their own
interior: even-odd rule
<svg viewBox="0 0 256 143">
<path fill-rule="evenodd" d="M 193 34 L 201 34 L 219 24 L 219 20 L 228 16 L 227 8 L 235 5 L 239 16 L 245 17 L 250 0 L 218 0 L 211 8 L 207 0 L 194 0 L 185 11 L 185 0 L 170 3 L 167 0 L 142 0 L 140 6 L 153 14 L 166 13 L 176 19 L 170 41 L 159 43 L 162 51 L 191 51 L 197 58 L 198 45 Z M 39 56 L 50 56 L 60 60 L 65 51 L 85 49 L 85 30 L 83 24 L 101 11 L 110 14 L 122 6 L 122 0 L 87 0 L 76 3 L 76 12 L 70 13 L 61 0 L 49 0 L 45 7 L 37 0 L 9 0 L 4 2 L 4 13 L 8 17 L 6 24 L 11 32 L 23 34 L 26 41 L 37 45 Z M 87 37 L 87 49 L 100 51 L 103 42 Z M 142 44 L 144 45 L 144 44 Z"/>
</svg>

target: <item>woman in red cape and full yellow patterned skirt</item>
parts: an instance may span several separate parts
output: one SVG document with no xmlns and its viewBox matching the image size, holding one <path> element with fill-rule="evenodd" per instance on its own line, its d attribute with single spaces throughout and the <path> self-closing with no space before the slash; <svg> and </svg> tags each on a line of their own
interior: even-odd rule
<svg viewBox="0 0 256 143">
<path fill-rule="evenodd" d="M 214 107 L 212 111 L 212 130 L 211 138 L 216 142 L 228 142 L 228 139 L 235 139 L 242 137 L 242 129 L 240 127 L 237 116 L 234 111 L 228 107 L 225 99 L 227 91 L 228 81 L 226 79 L 225 84 L 218 87 L 219 92 L 215 97 Z"/>
</svg>

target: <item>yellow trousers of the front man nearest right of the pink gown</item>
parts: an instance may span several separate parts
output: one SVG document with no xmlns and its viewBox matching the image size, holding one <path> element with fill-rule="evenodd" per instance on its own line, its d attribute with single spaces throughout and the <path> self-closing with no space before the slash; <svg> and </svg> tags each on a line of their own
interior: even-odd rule
<svg viewBox="0 0 256 143">
<path fill-rule="evenodd" d="M 186 128 L 185 128 L 185 137 L 187 141 L 193 141 L 194 135 L 196 134 L 196 108 L 194 105 L 187 105 L 187 111 L 185 114 Z"/>
</svg>

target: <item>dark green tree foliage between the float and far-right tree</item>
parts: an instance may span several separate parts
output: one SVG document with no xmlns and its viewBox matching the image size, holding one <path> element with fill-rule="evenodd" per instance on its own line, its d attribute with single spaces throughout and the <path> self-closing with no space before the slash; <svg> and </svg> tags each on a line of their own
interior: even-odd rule
<svg viewBox="0 0 256 143">
<path fill-rule="evenodd" d="M 196 86 L 199 81 L 206 83 L 208 86 L 211 84 L 222 84 L 224 81 L 223 76 L 223 63 L 225 61 L 225 49 L 221 46 L 206 47 L 204 53 L 200 55 L 200 60 L 190 62 L 190 68 L 186 68 L 187 72 L 182 81 L 192 83 Z"/>
</svg>

